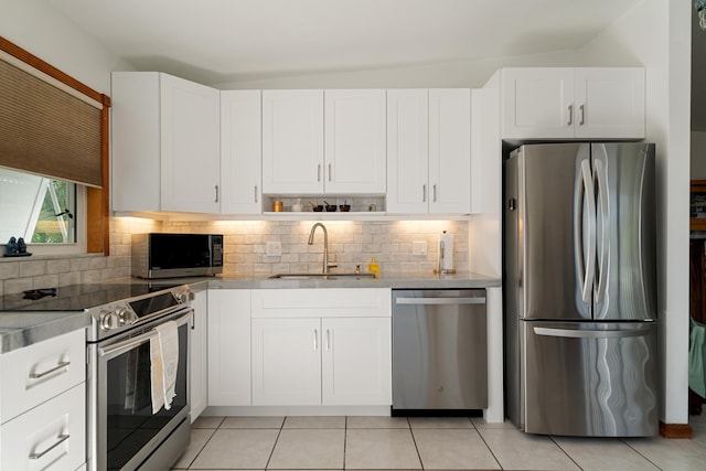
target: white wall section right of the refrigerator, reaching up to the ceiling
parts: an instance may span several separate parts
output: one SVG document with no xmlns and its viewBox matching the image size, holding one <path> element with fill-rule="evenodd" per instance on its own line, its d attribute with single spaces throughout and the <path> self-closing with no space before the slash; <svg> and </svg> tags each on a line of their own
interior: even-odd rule
<svg viewBox="0 0 706 471">
<path fill-rule="evenodd" d="M 644 0 L 584 51 L 586 65 L 644 64 L 646 135 L 656 143 L 657 290 L 665 424 L 688 422 L 691 9 Z M 668 367 L 667 367 L 668 366 Z"/>
</svg>

